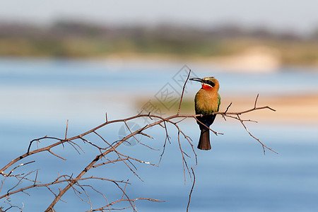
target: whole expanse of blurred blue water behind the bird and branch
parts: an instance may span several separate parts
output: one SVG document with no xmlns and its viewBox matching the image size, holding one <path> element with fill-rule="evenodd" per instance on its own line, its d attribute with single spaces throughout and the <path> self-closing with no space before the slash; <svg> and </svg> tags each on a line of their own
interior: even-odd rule
<svg viewBox="0 0 318 212">
<path fill-rule="evenodd" d="M 136 93 L 153 98 L 167 82 L 177 89 L 178 85 L 172 77 L 181 68 L 182 66 L 176 65 L 165 69 L 163 66 L 142 69 L 141 65 L 141 68 L 136 66 L 129 69 L 102 61 L 0 59 L 1 167 L 12 158 L 25 153 L 32 139 L 45 135 L 63 137 L 66 119 L 70 119 L 69 136 L 74 136 L 104 122 L 105 112 L 108 112 L 109 119 L 136 114 L 135 109 L 130 106 Z M 198 76 L 207 75 L 205 70 L 193 71 Z M 257 74 L 211 71 L 211 75 L 222 81 L 223 93 L 230 93 L 231 89 L 237 93 L 252 93 L 257 90 L 257 93 L 266 95 L 318 91 L 317 72 L 314 71 L 281 70 Z M 196 90 L 197 86 L 188 88 L 187 95 L 194 95 Z M 122 124 L 114 124 L 102 129 L 100 133 L 108 141 L 116 141 L 119 139 L 118 131 L 121 126 Z M 181 126 L 194 139 L 195 146 L 199 137 L 196 124 L 189 121 Z M 196 184 L 191 211 L 318 210 L 317 126 L 303 123 L 249 124 L 249 130 L 255 136 L 279 153 L 276 155 L 266 151 L 265 156 L 259 143 L 239 124 L 229 124 L 217 119 L 213 127 L 225 135 L 211 135 L 212 151 L 196 151 L 198 165 L 195 168 Z M 139 211 L 185 211 L 192 182 L 187 177 L 187 184 L 184 185 L 177 131 L 172 126 L 169 131 L 172 143 L 167 144 L 160 166 L 137 165 L 144 182 L 124 165 L 101 167 L 87 175 L 129 179 L 133 183 L 127 188 L 131 198 L 142 196 L 165 201 L 139 201 Z M 142 141 L 162 149 L 165 131 L 153 129 L 148 133 L 156 139 Z M 93 136 L 88 139 L 95 141 Z M 42 141 L 40 145 L 50 142 Z M 67 158 L 68 163 L 49 153 L 41 153 L 35 158 L 22 161 L 26 163 L 36 160 L 36 163 L 25 167 L 25 171 L 40 167 L 39 180 L 42 182 L 54 179 L 59 171 L 77 175 L 83 165 L 93 160 L 98 153 L 88 144 L 82 144 L 81 141 L 78 143 L 85 148 L 86 153 L 78 155 L 71 146 L 54 149 L 54 153 Z M 187 159 L 188 165 L 194 166 L 194 155 L 189 144 L 182 140 L 182 147 L 192 156 Z M 122 146 L 120 151 L 153 163 L 158 163 L 161 153 L 148 151 L 140 145 Z M 69 163 L 72 165 L 69 166 Z M 24 167 L 21 168 L 23 169 Z M 105 192 L 109 200 L 120 196 L 114 184 L 97 183 L 96 187 Z M 6 192 L 10 186 L 11 184 L 7 184 L 1 193 Z M 94 206 L 98 207 L 101 201 L 105 201 L 99 194 L 88 188 L 87 191 L 95 199 Z M 11 196 L 11 203 L 22 206 L 23 202 L 24 211 L 43 211 L 53 197 L 47 189 L 34 189 L 30 196 Z M 86 211 L 90 208 L 89 204 L 79 200 L 73 192 L 68 192 L 64 200 L 68 204 L 57 204 L 57 211 Z"/>
</svg>

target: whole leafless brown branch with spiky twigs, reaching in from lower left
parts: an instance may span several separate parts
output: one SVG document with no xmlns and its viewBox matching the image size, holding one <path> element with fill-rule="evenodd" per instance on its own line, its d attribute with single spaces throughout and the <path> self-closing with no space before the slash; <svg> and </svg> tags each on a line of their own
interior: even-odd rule
<svg viewBox="0 0 318 212">
<path fill-rule="evenodd" d="M 148 200 L 148 201 L 155 201 L 158 202 L 158 199 L 149 199 L 149 198 L 137 198 L 137 199 L 130 199 L 126 189 L 127 189 L 127 184 L 129 184 L 128 180 L 127 181 L 119 181 L 119 180 L 114 180 L 114 179 L 107 179 L 107 178 L 103 178 L 103 177 L 83 177 L 90 169 L 95 168 L 95 167 L 99 167 L 102 165 L 107 165 L 107 164 L 115 164 L 117 162 L 122 162 L 124 163 L 127 167 L 129 167 L 129 170 L 131 170 L 132 173 L 134 173 L 134 175 L 136 175 L 136 177 L 139 177 L 137 170 L 138 164 L 148 164 L 148 165 L 153 165 L 153 166 L 158 166 L 160 164 L 161 159 L 163 158 L 163 154 L 165 153 L 165 148 L 166 148 L 166 143 L 167 141 L 169 143 L 171 143 L 170 141 L 170 135 L 168 134 L 168 130 L 167 130 L 167 123 L 171 124 L 172 126 L 174 126 L 178 133 L 177 133 L 177 142 L 179 144 L 179 151 L 182 155 L 182 165 L 183 165 L 183 170 L 184 170 L 184 184 L 186 183 L 186 170 L 187 172 L 189 172 L 189 177 L 190 179 L 192 179 L 193 177 L 193 184 L 192 184 L 192 189 L 189 193 L 189 201 L 187 204 L 187 211 L 189 210 L 189 204 L 192 198 L 192 192 L 194 190 L 194 184 L 196 182 L 196 178 L 195 178 L 195 174 L 194 174 L 194 167 L 196 167 L 197 165 L 197 155 L 196 155 L 196 151 L 194 150 L 194 145 L 192 142 L 192 139 L 187 136 L 184 131 L 182 131 L 182 129 L 178 126 L 179 123 L 183 122 L 185 119 L 187 118 L 193 118 L 195 119 L 197 122 L 199 122 L 199 120 L 197 119 L 197 117 L 201 116 L 201 114 L 179 114 L 180 109 L 181 109 L 181 105 L 182 105 L 182 99 L 183 99 L 183 95 L 184 95 L 184 90 L 186 88 L 186 84 L 187 81 L 189 80 L 189 76 L 190 76 L 191 70 L 189 70 L 189 74 L 187 76 L 186 81 L 184 82 L 184 86 L 182 88 L 182 95 L 180 98 L 180 102 L 179 102 L 179 109 L 177 110 L 177 114 L 175 115 L 171 115 L 168 117 L 162 117 L 160 115 L 155 115 L 155 114 L 151 114 L 151 112 L 148 112 L 147 114 L 142 114 L 143 111 L 146 109 L 146 107 L 148 107 L 148 105 L 145 105 L 143 107 L 143 110 L 141 110 L 141 112 L 139 112 L 139 114 L 136 114 L 132 117 L 126 117 L 124 119 L 116 119 L 116 120 L 112 120 L 109 121 L 107 119 L 107 113 L 105 113 L 105 119 L 106 122 L 100 124 L 99 126 L 95 126 L 93 129 L 90 129 L 82 134 L 79 134 L 77 136 L 73 136 L 69 139 L 67 139 L 67 134 L 68 134 L 68 126 L 69 126 L 69 120 L 67 120 L 66 122 L 66 131 L 65 131 L 65 138 L 64 139 L 59 139 L 59 138 L 55 138 L 55 137 L 48 137 L 48 136 L 44 136 L 40 139 L 34 139 L 33 141 L 30 141 L 30 144 L 28 146 L 28 151 L 27 153 L 20 155 L 18 158 L 11 160 L 7 165 L 5 165 L 4 167 L 1 168 L 0 170 L 0 175 L 4 176 L 4 179 L 1 182 L 1 188 L 0 188 L 0 192 L 2 187 L 4 187 L 4 182 L 6 181 L 6 179 L 10 179 L 8 177 L 13 177 L 13 179 L 18 179 L 18 182 L 16 184 L 13 184 L 13 187 L 11 187 L 11 189 L 8 189 L 8 192 L 6 194 L 3 194 L 2 196 L 0 196 L 0 199 L 7 199 L 9 200 L 9 198 L 11 198 L 10 196 L 13 194 L 17 194 L 17 193 L 25 193 L 28 194 L 27 191 L 28 189 L 33 189 L 33 188 L 37 188 L 37 187 L 46 187 L 49 192 L 52 192 L 52 194 L 54 194 L 54 200 L 52 201 L 52 203 L 47 207 L 46 211 L 54 211 L 54 206 L 59 202 L 59 201 L 64 201 L 61 198 L 64 198 L 64 194 L 69 190 L 69 189 L 73 189 L 73 192 L 76 194 L 76 196 L 78 196 L 82 201 L 86 201 L 86 197 L 88 198 L 88 204 L 90 204 L 90 211 L 111 211 L 111 210 L 120 210 L 120 209 L 124 209 L 124 208 L 133 208 L 134 211 L 136 211 L 136 203 L 135 201 L 137 200 Z M 247 131 L 247 133 L 249 134 L 249 136 L 252 136 L 253 139 L 257 140 L 262 148 L 263 151 L 265 153 L 265 150 L 268 149 L 269 151 L 273 151 L 271 148 L 267 147 L 266 145 L 264 145 L 264 143 L 262 143 L 259 139 L 257 139 L 257 137 L 255 137 L 251 132 L 249 132 L 249 130 L 247 129 L 247 126 L 245 126 L 245 122 L 256 122 L 253 121 L 251 119 L 241 119 L 240 115 L 241 114 L 246 114 L 248 112 L 252 112 L 255 110 L 273 110 L 271 107 L 269 106 L 263 106 L 263 107 L 257 107 L 257 100 L 259 98 L 259 95 L 257 95 L 257 98 L 255 99 L 254 102 L 254 107 L 252 109 L 249 110 L 244 110 L 241 112 L 228 112 L 230 106 L 232 105 L 232 102 L 230 103 L 230 105 L 228 105 L 228 107 L 226 108 L 225 112 L 213 112 L 212 114 L 220 114 L 221 116 L 223 116 L 223 118 L 225 119 L 225 117 L 229 117 L 232 119 L 237 119 L 238 121 L 240 121 L 240 123 L 242 124 L 242 126 L 245 128 L 245 131 Z M 208 115 L 208 114 L 204 114 L 204 115 Z M 140 118 L 147 118 L 150 119 L 152 122 L 150 124 L 147 124 L 146 126 L 141 127 L 141 129 L 138 129 L 136 131 L 131 131 L 131 129 L 129 129 L 128 124 L 126 124 L 126 122 L 130 121 L 130 120 L 134 120 L 134 119 L 140 119 Z M 225 119 L 226 120 L 226 119 Z M 129 129 L 129 134 L 127 136 L 125 136 L 123 139 L 119 140 L 119 141 L 115 141 L 114 143 L 108 143 L 106 141 L 106 137 L 104 138 L 103 136 L 101 136 L 100 134 L 98 134 L 96 131 L 98 129 L 102 129 L 102 127 L 107 126 L 108 124 L 114 124 L 114 123 L 121 123 L 124 122 L 124 124 L 126 124 L 127 128 Z M 201 123 L 201 122 L 199 122 Z M 201 123 L 203 124 L 203 123 Z M 136 135 L 137 134 L 141 134 L 143 136 L 147 136 L 148 138 L 154 139 L 152 136 L 146 134 L 144 131 L 146 131 L 146 129 L 150 129 L 153 126 L 161 126 L 165 129 L 165 142 L 163 144 L 163 151 L 160 155 L 160 160 L 158 165 L 155 165 L 153 163 L 147 162 L 147 161 L 143 161 L 140 160 L 139 158 L 134 158 L 131 157 L 129 155 L 123 154 L 121 152 L 118 151 L 118 147 L 126 142 L 128 139 L 134 138 L 136 139 Z M 213 131 L 212 129 L 208 128 L 209 130 L 211 130 L 214 134 L 221 134 L 218 133 L 216 131 Z M 88 141 L 87 139 L 84 139 L 84 136 L 88 136 L 89 134 L 96 134 L 102 141 L 102 144 L 100 143 L 95 143 L 94 141 Z M 184 139 L 186 139 L 189 143 L 189 146 L 191 146 L 192 148 L 192 152 L 195 155 L 195 161 L 196 164 L 194 165 L 194 167 L 191 167 L 191 171 L 189 169 L 188 166 L 188 158 L 190 158 L 192 156 L 192 154 L 187 154 L 184 150 L 183 150 L 183 146 L 181 145 L 181 139 L 180 139 L 180 135 L 184 136 Z M 77 140 L 76 140 L 77 139 Z M 64 143 L 69 143 L 73 148 L 76 149 L 76 151 L 78 153 L 79 150 L 78 148 L 81 148 L 81 146 L 83 146 L 83 143 L 78 142 L 81 139 L 81 141 L 83 141 L 83 143 L 89 143 L 91 146 L 93 146 L 93 148 L 95 150 L 98 150 L 99 154 L 95 155 L 95 158 L 93 158 L 93 160 L 90 161 L 90 163 L 88 165 L 86 165 L 85 167 L 83 167 L 83 170 L 81 170 L 81 172 L 78 173 L 78 175 L 76 177 L 73 178 L 73 174 L 71 176 L 69 175 L 61 175 L 57 177 L 57 179 L 54 179 L 54 181 L 49 182 L 49 183 L 43 183 L 40 184 L 40 182 L 37 181 L 37 178 L 40 178 L 40 176 L 38 177 L 38 175 L 40 175 L 40 172 L 38 172 L 38 170 L 33 170 L 30 171 L 28 173 L 16 173 L 14 172 L 13 175 L 13 171 L 16 170 L 16 168 L 26 165 L 28 163 L 24 163 L 24 164 L 20 164 L 20 165 L 16 165 L 16 167 L 11 168 L 11 172 L 9 172 L 8 174 L 4 173 L 6 170 L 9 169 L 9 167 L 15 165 L 18 161 L 23 160 L 24 158 L 27 158 L 30 155 L 34 155 L 40 152 L 49 152 L 50 154 L 61 158 L 63 160 L 66 160 L 66 158 L 62 158 L 60 155 L 57 155 L 56 153 L 53 153 L 53 148 L 59 145 L 64 146 Z M 98 139 L 98 141 L 100 140 Z M 108 139 L 108 138 L 107 138 Z M 47 144 L 45 147 L 42 147 L 43 143 L 40 143 L 40 141 L 47 141 L 49 140 L 50 143 Z M 37 148 L 33 151 L 31 151 L 31 146 L 34 142 L 37 142 Z M 52 143 L 52 141 L 54 141 L 55 143 Z M 136 139 L 136 141 L 138 141 L 139 143 L 141 143 L 138 139 Z M 39 146 L 39 144 L 41 144 Z M 144 146 L 147 146 L 144 143 L 141 143 Z M 105 147 L 106 146 L 106 147 Z M 150 148 L 151 150 L 156 150 L 155 148 L 152 148 L 151 146 L 147 146 L 148 148 Z M 81 151 L 83 151 L 83 148 L 81 148 Z M 84 152 L 84 151 L 83 151 Z M 274 153 L 276 153 L 276 151 L 273 151 Z M 113 157 L 113 153 L 115 155 L 115 157 Z M 110 154 L 110 155 L 108 155 Z M 116 158 L 116 155 L 118 158 Z M 105 158 L 105 160 L 107 160 L 107 162 L 102 163 L 102 159 Z M 29 162 L 29 163 L 33 163 L 35 161 Z M 36 172 L 36 173 L 35 173 Z M 82 184 L 80 182 L 83 182 L 83 180 L 90 180 L 90 179 L 101 179 L 102 181 L 106 181 L 106 182 L 112 182 L 114 184 L 116 184 L 116 186 L 118 187 L 118 189 L 122 192 L 121 195 L 121 199 L 117 199 L 114 200 L 112 202 L 108 202 L 105 195 L 102 194 L 101 192 L 98 192 L 98 190 L 94 189 L 93 186 L 89 185 L 89 184 Z M 141 179 L 141 177 L 139 177 L 139 179 Z M 141 179 L 142 180 L 142 179 Z M 20 187 L 20 184 L 22 184 L 23 182 L 32 182 L 32 184 L 30 186 L 27 187 Z M 119 186 L 119 183 L 124 183 L 124 187 Z M 50 188 L 52 187 L 52 185 L 57 185 L 57 184 L 66 184 L 66 186 L 63 189 L 54 189 L 54 188 Z M 18 187 L 19 186 L 19 187 Z M 101 194 L 107 204 L 105 204 L 105 206 L 102 206 L 101 208 L 96 208 L 93 209 L 93 203 L 90 199 L 90 192 L 86 192 L 86 187 L 89 187 L 91 189 L 93 189 L 93 191 L 98 192 L 99 194 Z M 13 190 L 16 189 L 16 190 Z M 83 192 L 81 192 L 81 189 L 83 190 Z M 28 194 L 29 195 L 29 194 Z M 85 197 L 86 195 L 86 197 Z M 112 208 L 114 206 L 114 204 L 118 204 L 119 202 L 126 202 L 127 204 L 129 204 L 128 206 L 122 206 L 120 205 L 120 208 Z M 12 207 L 16 207 L 13 205 L 10 205 L 10 208 Z M 2 211 L 2 208 L 0 207 L 0 211 Z"/>
</svg>

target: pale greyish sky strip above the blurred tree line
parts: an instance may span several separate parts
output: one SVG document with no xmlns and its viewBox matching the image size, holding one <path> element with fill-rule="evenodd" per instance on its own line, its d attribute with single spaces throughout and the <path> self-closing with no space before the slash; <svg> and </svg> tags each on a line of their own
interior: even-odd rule
<svg viewBox="0 0 318 212">
<path fill-rule="evenodd" d="M 105 24 L 237 23 L 306 33 L 318 28 L 318 0 L 0 0 L 0 20 L 51 23 L 66 18 Z"/>
</svg>

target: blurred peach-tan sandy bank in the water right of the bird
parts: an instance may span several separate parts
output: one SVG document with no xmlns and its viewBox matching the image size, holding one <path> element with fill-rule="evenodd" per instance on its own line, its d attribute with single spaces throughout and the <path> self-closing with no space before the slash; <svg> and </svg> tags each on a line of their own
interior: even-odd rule
<svg viewBox="0 0 318 212">
<path fill-rule="evenodd" d="M 223 97 L 222 111 L 232 102 L 228 111 L 238 112 L 248 110 L 254 107 L 255 97 Z M 260 96 L 257 106 L 266 106 L 273 108 L 271 110 L 258 110 L 242 115 L 245 119 L 254 119 L 259 122 L 279 122 L 293 124 L 315 124 L 318 125 L 318 94 L 312 95 L 293 95 L 293 96 Z"/>
</svg>

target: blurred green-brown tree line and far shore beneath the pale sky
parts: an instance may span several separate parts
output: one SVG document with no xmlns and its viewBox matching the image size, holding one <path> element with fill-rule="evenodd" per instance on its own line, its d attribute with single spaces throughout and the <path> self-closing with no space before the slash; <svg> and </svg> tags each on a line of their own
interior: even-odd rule
<svg viewBox="0 0 318 212">
<path fill-rule="evenodd" d="M 301 35 L 238 25 L 105 26 L 64 20 L 46 26 L 0 23 L 0 55 L 8 57 L 107 57 L 111 54 L 213 57 L 237 54 L 258 45 L 277 49 L 284 65 L 318 66 L 318 29 L 311 35 Z"/>
</svg>

